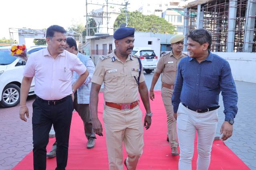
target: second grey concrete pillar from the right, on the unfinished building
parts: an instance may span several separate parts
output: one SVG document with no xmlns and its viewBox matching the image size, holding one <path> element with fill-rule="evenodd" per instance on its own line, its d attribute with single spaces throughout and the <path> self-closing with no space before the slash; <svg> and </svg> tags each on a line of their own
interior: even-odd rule
<svg viewBox="0 0 256 170">
<path fill-rule="evenodd" d="M 234 51 L 236 10 L 237 10 L 236 4 L 237 4 L 237 0 L 232 0 L 229 2 L 227 52 Z"/>
</svg>

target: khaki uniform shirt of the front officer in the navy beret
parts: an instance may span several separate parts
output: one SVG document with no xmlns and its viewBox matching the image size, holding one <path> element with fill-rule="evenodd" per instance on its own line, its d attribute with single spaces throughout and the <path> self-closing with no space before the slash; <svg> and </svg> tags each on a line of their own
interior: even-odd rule
<svg viewBox="0 0 256 170">
<path fill-rule="evenodd" d="M 93 83 L 102 85 L 104 82 L 104 100 L 106 102 L 128 104 L 139 98 L 138 79 L 140 64 L 136 56 L 129 55 L 124 63 L 116 57 L 114 51 L 102 56 L 96 65 Z M 143 71 L 140 83 L 145 81 Z"/>
</svg>

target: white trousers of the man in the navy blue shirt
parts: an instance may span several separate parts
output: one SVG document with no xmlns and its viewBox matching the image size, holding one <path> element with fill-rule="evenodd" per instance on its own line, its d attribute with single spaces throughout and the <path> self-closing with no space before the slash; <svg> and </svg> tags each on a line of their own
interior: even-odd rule
<svg viewBox="0 0 256 170">
<path fill-rule="evenodd" d="M 192 170 L 194 140 L 197 131 L 197 170 L 208 170 L 218 124 L 218 109 L 197 113 L 181 103 L 177 111 L 177 134 L 180 146 L 179 170 Z"/>
</svg>

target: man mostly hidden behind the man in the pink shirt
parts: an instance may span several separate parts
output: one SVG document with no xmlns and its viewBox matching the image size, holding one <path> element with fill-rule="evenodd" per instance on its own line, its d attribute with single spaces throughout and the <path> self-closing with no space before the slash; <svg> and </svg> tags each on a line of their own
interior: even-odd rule
<svg viewBox="0 0 256 170">
<path fill-rule="evenodd" d="M 75 54 L 80 61 L 86 66 L 89 75 L 84 81 L 84 83 L 77 89 L 74 93 L 74 109 L 78 112 L 79 116 L 81 117 L 82 121 L 84 122 L 84 133 L 88 140 L 86 147 L 88 149 L 94 148 L 96 135 L 92 130 L 92 119 L 90 116 L 90 90 L 91 90 L 91 80 L 92 75 L 95 70 L 94 63 L 89 55 L 83 55 L 78 52 L 78 48 L 76 45 L 76 40 L 73 38 L 67 38 L 66 40 L 66 50 L 70 53 Z M 74 72 L 73 75 L 73 83 L 78 79 L 78 74 Z M 53 158 L 56 156 L 56 142 L 52 146 L 52 150 L 47 153 L 47 157 Z"/>
</svg>

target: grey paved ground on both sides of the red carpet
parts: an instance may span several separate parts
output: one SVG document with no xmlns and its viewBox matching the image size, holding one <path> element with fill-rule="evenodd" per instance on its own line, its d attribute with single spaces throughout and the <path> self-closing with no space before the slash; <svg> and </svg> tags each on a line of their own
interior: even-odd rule
<svg viewBox="0 0 256 170">
<path fill-rule="evenodd" d="M 153 73 L 145 74 L 146 84 L 150 88 Z M 241 158 L 252 170 L 256 170 L 256 83 L 236 81 L 239 95 L 238 115 L 234 123 L 233 136 L 225 144 Z M 160 81 L 155 90 L 160 90 Z M 222 98 L 222 97 L 221 97 Z M 19 107 L 0 108 L 0 170 L 13 168 L 32 150 L 32 102 L 28 97 L 30 110 L 28 122 L 19 119 Z M 223 103 L 220 99 L 218 130 L 224 121 Z"/>
</svg>

